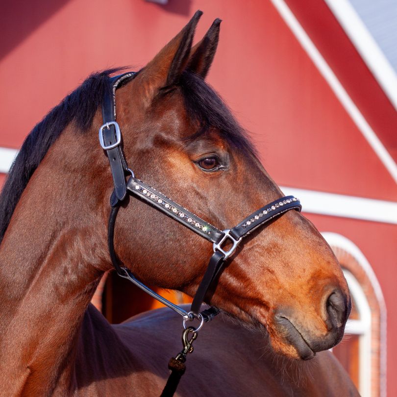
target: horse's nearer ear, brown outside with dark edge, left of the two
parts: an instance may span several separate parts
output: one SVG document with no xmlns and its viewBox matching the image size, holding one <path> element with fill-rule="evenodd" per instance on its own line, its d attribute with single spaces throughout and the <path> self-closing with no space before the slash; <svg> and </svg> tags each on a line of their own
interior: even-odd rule
<svg viewBox="0 0 397 397">
<path fill-rule="evenodd" d="M 189 23 L 145 66 L 140 77 L 148 99 L 152 99 L 160 88 L 178 82 L 186 69 L 192 48 L 193 36 L 202 11 L 196 11 Z"/>
</svg>

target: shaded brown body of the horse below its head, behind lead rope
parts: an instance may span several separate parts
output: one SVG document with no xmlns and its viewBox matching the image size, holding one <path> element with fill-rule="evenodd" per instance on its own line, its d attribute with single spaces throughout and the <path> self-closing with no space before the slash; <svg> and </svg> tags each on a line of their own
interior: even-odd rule
<svg viewBox="0 0 397 397">
<path fill-rule="evenodd" d="M 109 325 L 90 305 L 78 342 L 75 395 L 159 396 L 167 363 L 182 347 L 175 337 L 181 326 L 169 309 Z M 285 359 L 273 353 L 265 335 L 223 314 L 199 331 L 186 368 L 175 396 L 358 396 L 331 352 L 309 361 Z"/>
</svg>

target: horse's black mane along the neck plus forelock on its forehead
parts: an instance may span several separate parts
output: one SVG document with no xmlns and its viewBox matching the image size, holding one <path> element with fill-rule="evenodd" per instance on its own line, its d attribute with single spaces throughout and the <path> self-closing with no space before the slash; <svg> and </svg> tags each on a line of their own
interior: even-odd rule
<svg viewBox="0 0 397 397">
<path fill-rule="evenodd" d="M 50 146 L 72 121 L 82 132 L 91 127 L 94 115 L 102 103 L 104 91 L 110 89 L 108 76 L 123 69 L 107 70 L 89 76 L 26 137 L 0 194 L 0 243 L 30 177 Z M 179 85 L 187 113 L 200 127 L 189 139 L 205 134 L 214 127 L 238 149 L 255 154 L 245 131 L 234 119 L 229 108 L 202 78 L 192 72 L 184 72 Z"/>
</svg>

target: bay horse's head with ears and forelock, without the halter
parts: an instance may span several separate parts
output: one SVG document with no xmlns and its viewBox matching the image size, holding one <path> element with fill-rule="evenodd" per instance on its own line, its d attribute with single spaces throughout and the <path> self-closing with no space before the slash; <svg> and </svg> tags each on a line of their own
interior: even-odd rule
<svg viewBox="0 0 397 397">
<path fill-rule="evenodd" d="M 221 21 L 215 20 L 192 47 L 200 15 L 117 91 L 117 117 L 137 177 L 205 221 L 227 228 L 283 194 L 228 107 L 204 81 Z M 100 125 L 99 117 L 94 124 Z M 106 214 L 112 183 L 99 150 L 96 167 L 103 178 Z M 283 163 L 293 172 L 293 164 Z M 212 250 L 204 239 L 132 197 L 120 210 L 115 248 L 143 282 L 191 296 Z M 207 298 L 263 329 L 276 352 L 301 359 L 336 345 L 350 312 L 347 283 L 335 255 L 297 211 L 250 234 Z"/>
</svg>

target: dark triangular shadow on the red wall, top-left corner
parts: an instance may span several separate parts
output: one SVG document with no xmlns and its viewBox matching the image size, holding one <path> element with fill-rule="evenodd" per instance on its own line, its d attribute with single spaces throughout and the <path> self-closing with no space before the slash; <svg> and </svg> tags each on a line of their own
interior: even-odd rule
<svg viewBox="0 0 397 397">
<path fill-rule="evenodd" d="M 0 12 L 0 59 L 69 1 L 3 1 Z"/>
</svg>

